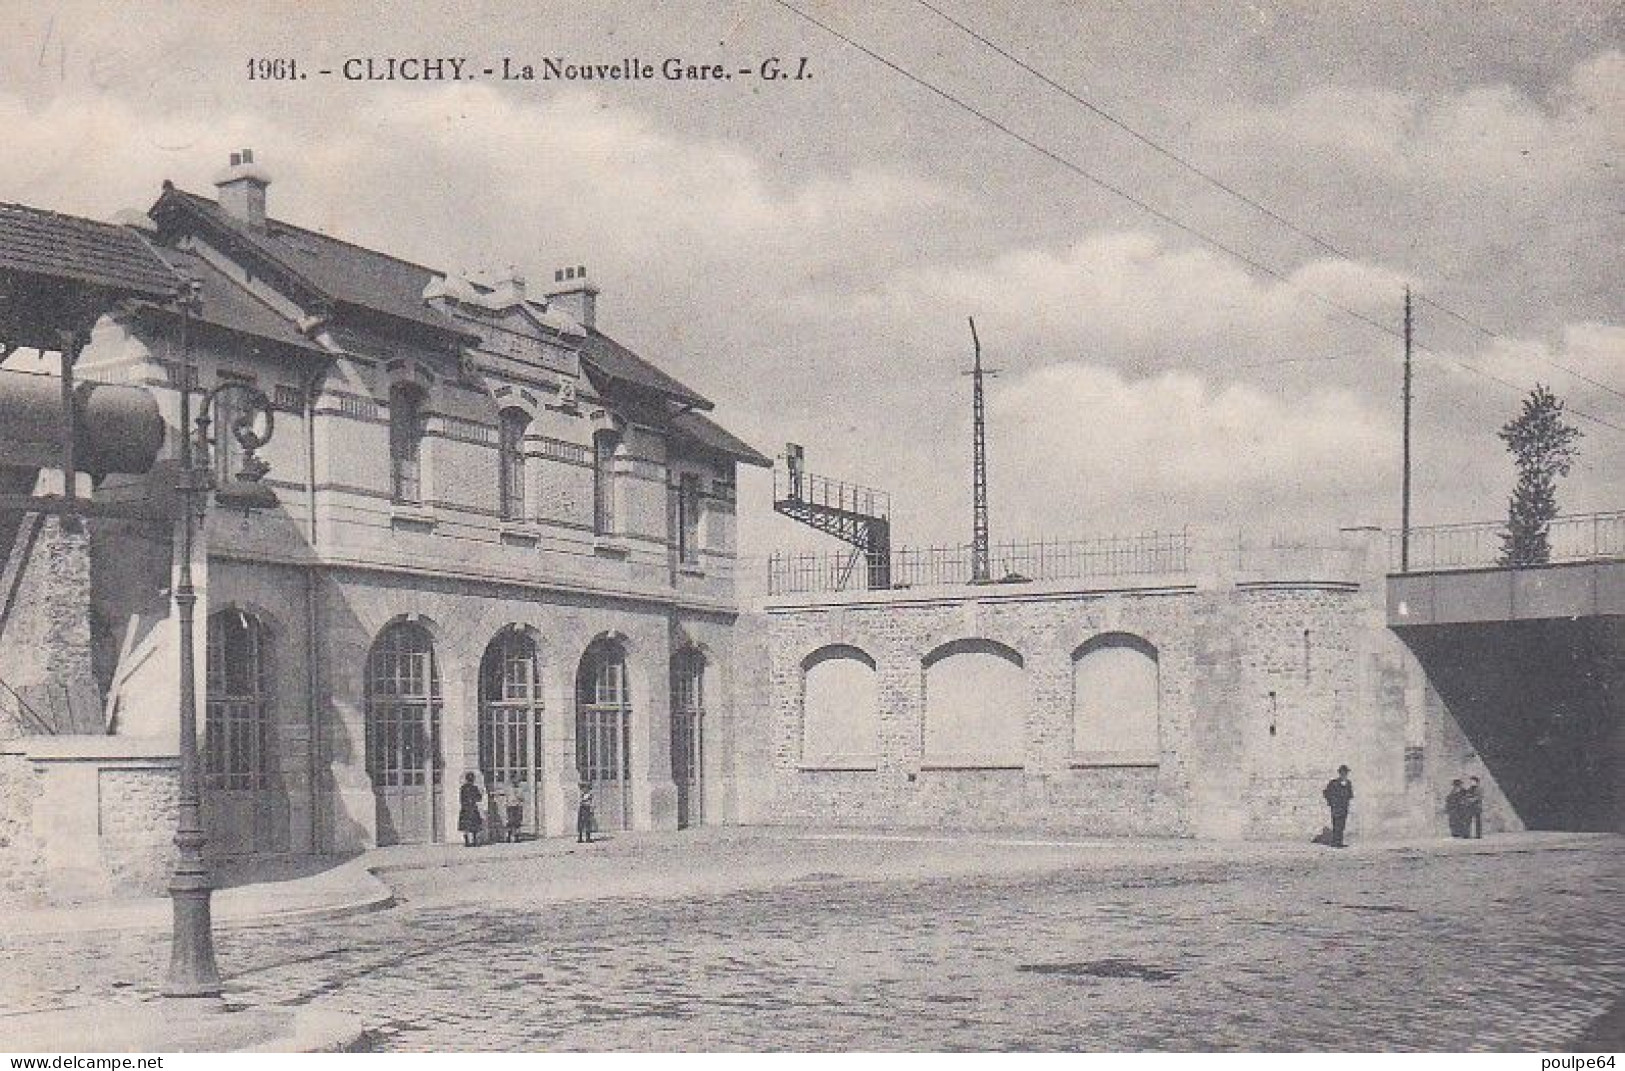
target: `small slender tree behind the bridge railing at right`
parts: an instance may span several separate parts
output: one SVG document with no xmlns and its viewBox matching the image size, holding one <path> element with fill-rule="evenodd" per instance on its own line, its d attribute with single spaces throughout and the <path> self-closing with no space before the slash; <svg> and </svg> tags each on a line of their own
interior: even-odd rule
<svg viewBox="0 0 1625 1071">
<path fill-rule="evenodd" d="M 1563 421 L 1563 403 L 1536 384 L 1523 413 L 1500 431 L 1518 465 L 1518 486 L 1502 533 L 1503 566 L 1539 566 L 1552 559 L 1550 530 L 1557 517 L 1557 478 L 1566 476 L 1580 450 L 1580 429 Z"/>
</svg>

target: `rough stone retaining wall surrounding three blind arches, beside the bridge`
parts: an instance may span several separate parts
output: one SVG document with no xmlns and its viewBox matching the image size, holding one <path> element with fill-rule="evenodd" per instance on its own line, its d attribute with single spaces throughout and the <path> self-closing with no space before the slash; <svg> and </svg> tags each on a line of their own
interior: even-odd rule
<svg viewBox="0 0 1625 1071">
<path fill-rule="evenodd" d="M 1443 744 L 1435 765 L 1424 756 L 1459 733 L 1386 629 L 1384 579 L 1365 541 L 1355 533 L 1331 553 L 1295 556 L 1209 548 L 1188 574 L 1113 587 L 770 601 L 756 648 L 769 683 L 764 733 L 741 744 L 741 767 L 759 764 L 759 780 L 741 795 L 757 821 L 1306 840 L 1328 822 L 1321 788 L 1349 764 L 1350 835 L 1441 830 L 1436 800 L 1461 756 Z M 1074 752 L 1072 660 L 1112 634 L 1155 652 L 1149 761 Z M 962 640 L 1004 645 L 1022 663 L 1032 702 L 1016 762 L 944 767 L 925 752 L 925 666 Z M 803 754 L 803 663 L 827 645 L 874 660 L 873 769 L 827 769 Z"/>
</svg>

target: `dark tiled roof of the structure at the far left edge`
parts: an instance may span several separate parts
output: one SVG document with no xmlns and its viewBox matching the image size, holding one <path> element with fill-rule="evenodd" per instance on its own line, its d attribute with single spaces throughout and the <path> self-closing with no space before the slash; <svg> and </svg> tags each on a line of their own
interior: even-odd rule
<svg viewBox="0 0 1625 1071">
<path fill-rule="evenodd" d="M 132 228 L 0 203 L 0 271 L 23 271 L 153 299 L 180 288 Z"/>
</svg>

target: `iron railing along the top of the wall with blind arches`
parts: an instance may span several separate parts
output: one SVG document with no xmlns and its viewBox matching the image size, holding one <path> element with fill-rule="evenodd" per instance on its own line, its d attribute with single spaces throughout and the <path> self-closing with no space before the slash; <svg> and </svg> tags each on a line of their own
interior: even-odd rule
<svg viewBox="0 0 1625 1071">
<path fill-rule="evenodd" d="M 1183 574 L 1190 569 L 1190 533 L 999 543 L 990 548 L 988 557 L 991 583 Z M 970 566 L 970 544 L 899 548 L 890 553 L 890 587 L 968 585 Z M 780 553 L 767 559 L 769 595 L 863 592 L 869 587 L 869 569 L 858 553 Z"/>
</svg>

